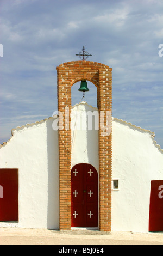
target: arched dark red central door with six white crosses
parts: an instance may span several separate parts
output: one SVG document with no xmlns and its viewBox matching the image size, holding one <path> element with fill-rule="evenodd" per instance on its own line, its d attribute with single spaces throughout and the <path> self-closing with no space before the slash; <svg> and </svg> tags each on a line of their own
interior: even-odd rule
<svg viewBox="0 0 163 256">
<path fill-rule="evenodd" d="M 91 164 L 71 170 L 71 220 L 72 227 L 98 226 L 98 174 Z"/>
</svg>

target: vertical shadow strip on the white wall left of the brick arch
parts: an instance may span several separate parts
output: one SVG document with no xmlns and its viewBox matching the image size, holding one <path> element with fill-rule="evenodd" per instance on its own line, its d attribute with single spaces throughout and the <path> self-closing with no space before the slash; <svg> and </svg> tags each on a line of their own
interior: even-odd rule
<svg viewBox="0 0 163 256">
<path fill-rule="evenodd" d="M 47 229 L 59 229 L 59 146 L 54 118 L 47 121 L 48 209 Z"/>
</svg>

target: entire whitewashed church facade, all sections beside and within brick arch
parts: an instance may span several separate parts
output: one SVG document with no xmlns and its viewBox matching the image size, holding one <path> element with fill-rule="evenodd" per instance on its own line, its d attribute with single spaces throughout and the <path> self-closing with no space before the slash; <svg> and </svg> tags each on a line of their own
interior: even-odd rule
<svg viewBox="0 0 163 256">
<path fill-rule="evenodd" d="M 90 163 L 98 172 L 98 131 L 87 130 L 86 111 L 97 109 L 86 102 L 72 108 L 72 127 L 78 127 L 72 129 L 72 167 Z M 17 127 L 0 146 L 0 168 L 18 168 L 19 182 L 19 221 L 0 222 L 0 227 L 59 228 L 58 131 L 53 121 Z M 112 190 L 112 230 L 148 231 L 151 180 L 163 180 L 163 150 L 152 135 L 112 119 L 112 179 L 119 180 L 118 191 Z"/>
</svg>

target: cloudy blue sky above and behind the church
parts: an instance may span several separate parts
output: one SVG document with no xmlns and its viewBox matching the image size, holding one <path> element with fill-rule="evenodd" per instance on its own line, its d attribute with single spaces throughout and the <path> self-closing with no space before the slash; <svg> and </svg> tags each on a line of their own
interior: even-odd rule
<svg viewBox="0 0 163 256">
<path fill-rule="evenodd" d="M 163 148 L 162 0 L 0 0 L 0 143 L 11 129 L 57 110 L 56 66 L 88 60 L 112 68 L 112 115 L 155 132 Z M 82 99 L 72 87 L 72 105 Z M 89 105 L 97 106 L 88 83 Z"/>
</svg>

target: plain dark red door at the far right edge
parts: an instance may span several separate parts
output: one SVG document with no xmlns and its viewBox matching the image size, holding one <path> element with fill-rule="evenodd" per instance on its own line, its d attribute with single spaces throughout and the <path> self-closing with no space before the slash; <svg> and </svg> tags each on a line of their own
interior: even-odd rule
<svg viewBox="0 0 163 256">
<path fill-rule="evenodd" d="M 151 181 L 149 231 L 163 231 L 163 180 Z"/>
</svg>

